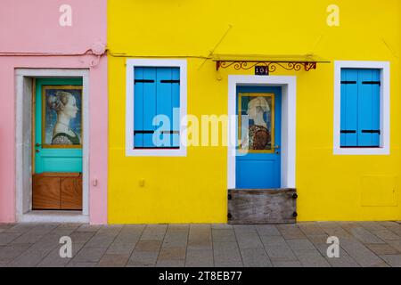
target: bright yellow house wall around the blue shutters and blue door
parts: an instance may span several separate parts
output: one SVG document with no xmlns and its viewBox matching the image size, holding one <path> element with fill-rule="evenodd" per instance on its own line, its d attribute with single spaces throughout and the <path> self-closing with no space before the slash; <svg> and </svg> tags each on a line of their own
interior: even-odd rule
<svg viewBox="0 0 401 285">
<path fill-rule="evenodd" d="M 329 4 L 340 6 L 340 27 L 326 24 Z M 229 25 L 215 53 L 315 53 L 331 61 L 273 74 L 298 77 L 299 221 L 401 219 L 400 8 L 399 0 L 110 0 L 109 222 L 226 222 L 225 147 L 191 147 L 186 158 L 125 156 L 125 61 L 188 57 L 188 113 L 226 114 L 228 75 L 253 70 L 225 69 L 218 81 L 215 63 L 197 56 L 208 56 Z M 390 156 L 333 156 L 333 61 L 390 61 Z M 364 176 L 382 180 L 387 192 L 363 191 Z"/>
</svg>

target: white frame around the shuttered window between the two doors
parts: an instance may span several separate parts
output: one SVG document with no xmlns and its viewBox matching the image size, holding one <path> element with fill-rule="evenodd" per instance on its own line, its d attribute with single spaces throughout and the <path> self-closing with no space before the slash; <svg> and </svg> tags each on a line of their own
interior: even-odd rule
<svg viewBox="0 0 401 285">
<path fill-rule="evenodd" d="M 178 150 L 135 150 L 134 145 L 134 83 L 135 67 L 179 68 L 180 69 L 180 148 Z M 186 60 L 127 60 L 127 99 L 126 99 L 126 156 L 127 157 L 186 157 L 186 137 L 183 124 L 187 116 L 187 61 Z"/>
</svg>

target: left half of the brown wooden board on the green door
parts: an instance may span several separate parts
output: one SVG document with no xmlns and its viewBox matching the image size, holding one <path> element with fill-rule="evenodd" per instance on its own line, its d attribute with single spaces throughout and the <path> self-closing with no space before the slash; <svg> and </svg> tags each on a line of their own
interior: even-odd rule
<svg viewBox="0 0 401 285">
<path fill-rule="evenodd" d="M 60 177 L 33 175 L 32 208 L 34 210 L 60 209 Z"/>
</svg>

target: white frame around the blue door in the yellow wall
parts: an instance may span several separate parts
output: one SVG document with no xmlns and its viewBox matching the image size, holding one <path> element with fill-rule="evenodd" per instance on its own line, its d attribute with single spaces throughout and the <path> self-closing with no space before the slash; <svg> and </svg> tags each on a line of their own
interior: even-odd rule
<svg viewBox="0 0 401 285">
<path fill-rule="evenodd" d="M 228 77 L 228 117 L 236 116 L 237 86 L 281 86 L 282 87 L 282 177 L 281 188 L 296 188 L 295 161 L 296 161 L 296 101 L 297 77 L 283 76 L 236 76 Z M 236 126 L 228 131 L 228 142 L 233 141 Z M 236 141 L 236 140 L 235 140 Z M 229 143 L 227 155 L 227 186 L 235 189 L 235 145 Z"/>
</svg>

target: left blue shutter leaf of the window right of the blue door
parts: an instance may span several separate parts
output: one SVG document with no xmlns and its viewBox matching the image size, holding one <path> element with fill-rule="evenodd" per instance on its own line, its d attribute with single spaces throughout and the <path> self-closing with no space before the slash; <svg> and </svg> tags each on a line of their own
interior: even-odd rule
<svg viewBox="0 0 401 285">
<path fill-rule="evenodd" d="M 341 70 L 341 147 L 356 147 L 358 128 L 358 71 L 356 69 Z"/>
</svg>

